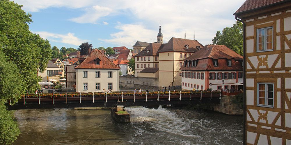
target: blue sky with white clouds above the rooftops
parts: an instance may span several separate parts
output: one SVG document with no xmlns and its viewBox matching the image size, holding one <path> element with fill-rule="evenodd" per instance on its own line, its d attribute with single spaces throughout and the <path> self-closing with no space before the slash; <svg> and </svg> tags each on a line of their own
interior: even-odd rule
<svg viewBox="0 0 291 145">
<path fill-rule="evenodd" d="M 33 33 L 51 47 L 77 49 L 156 42 L 161 24 L 164 43 L 172 37 L 212 44 L 216 31 L 235 23 L 233 13 L 245 0 L 14 0 L 29 12 Z"/>
</svg>

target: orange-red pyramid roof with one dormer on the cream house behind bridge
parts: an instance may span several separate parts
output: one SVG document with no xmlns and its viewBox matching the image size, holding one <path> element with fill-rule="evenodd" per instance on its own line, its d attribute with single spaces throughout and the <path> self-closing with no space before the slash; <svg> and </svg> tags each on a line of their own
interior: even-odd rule
<svg viewBox="0 0 291 145">
<path fill-rule="evenodd" d="M 99 58 L 100 65 L 96 65 L 95 59 Z M 100 50 L 95 50 L 91 53 L 79 66 L 75 69 L 116 69 L 120 68 L 113 64 Z"/>
</svg>

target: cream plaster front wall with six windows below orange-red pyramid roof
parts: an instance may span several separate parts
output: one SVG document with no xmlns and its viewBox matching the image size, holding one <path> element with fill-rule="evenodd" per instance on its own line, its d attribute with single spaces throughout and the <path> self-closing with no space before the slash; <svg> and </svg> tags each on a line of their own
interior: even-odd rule
<svg viewBox="0 0 291 145">
<path fill-rule="evenodd" d="M 83 77 L 83 71 L 88 71 L 88 77 Z M 100 78 L 96 78 L 96 71 L 100 71 Z M 112 78 L 108 78 L 108 71 L 112 71 Z M 83 83 L 88 83 L 88 90 L 83 90 Z M 96 90 L 96 83 L 100 83 L 100 90 Z M 102 92 L 112 83 L 112 90 L 119 91 L 119 70 L 76 69 L 76 92 Z"/>
</svg>

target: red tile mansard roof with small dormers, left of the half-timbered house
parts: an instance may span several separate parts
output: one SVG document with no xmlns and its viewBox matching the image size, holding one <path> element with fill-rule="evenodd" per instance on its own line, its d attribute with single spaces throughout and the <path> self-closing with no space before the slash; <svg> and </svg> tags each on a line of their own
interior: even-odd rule
<svg viewBox="0 0 291 145">
<path fill-rule="evenodd" d="M 218 59 L 218 66 L 214 66 L 213 60 Z M 231 66 L 227 65 L 227 60 L 231 60 Z M 204 71 L 204 70 L 242 70 L 243 57 L 224 45 L 207 45 L 194 53 L 184 61 L 198 60 L 196 67 L 184 67 L 184 71 Z"/>
</svg>

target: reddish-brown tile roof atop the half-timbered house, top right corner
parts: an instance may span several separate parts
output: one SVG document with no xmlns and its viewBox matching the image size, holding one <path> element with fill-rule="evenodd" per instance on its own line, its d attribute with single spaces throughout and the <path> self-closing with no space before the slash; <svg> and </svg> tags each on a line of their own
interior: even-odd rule
<svg viewBox="0 0 291 145">
<path fill-rule="evenodd" d="M 268 6 L 268 5 L 278 3 L 281 1 L 290 1 L 290 0 L 247 0 L 246 2 L 244 2 L 244 4 L 242 4 L 242 6 L 240 6 L 240 8 L 235 12 L 235 14 L 261 8 L 261 7 Z"/>
</svg>

